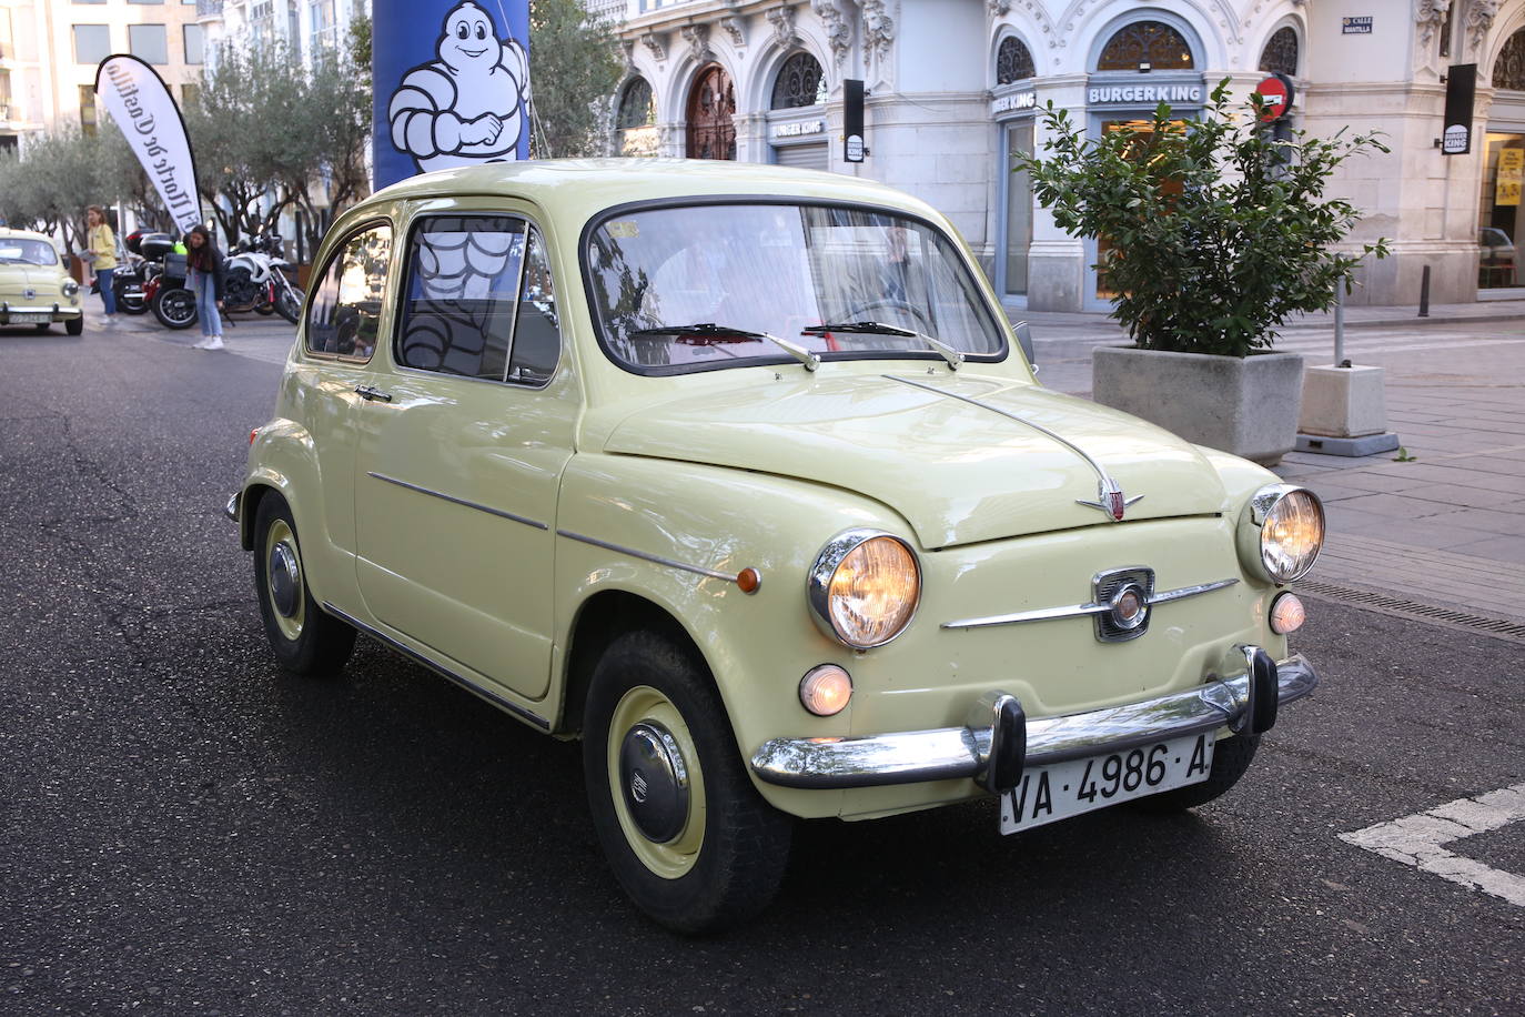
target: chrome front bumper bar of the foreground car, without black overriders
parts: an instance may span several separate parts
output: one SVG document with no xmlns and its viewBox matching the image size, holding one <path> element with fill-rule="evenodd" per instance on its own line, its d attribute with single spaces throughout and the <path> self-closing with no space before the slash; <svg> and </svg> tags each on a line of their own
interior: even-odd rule
<svg viewBox="0 0 1525 1017">
<path fill-rule="evenodd" d="M 1249 683 L 1246 672 L 1142 703 L 1029 718 L 1023 765 L 1084 759 L 1217 730 L 1249 709 Z M 1308 695 L 1318 683 L 1318 672 L 1301 654 L 1276 665 L 1281 703 Z M 775 738 L 752 756 L 752 770 L 769 784 L 810 790 L 978 778 L 996 736 L 993 727 L 939 727 L 863 738 Z"/>
</svg>

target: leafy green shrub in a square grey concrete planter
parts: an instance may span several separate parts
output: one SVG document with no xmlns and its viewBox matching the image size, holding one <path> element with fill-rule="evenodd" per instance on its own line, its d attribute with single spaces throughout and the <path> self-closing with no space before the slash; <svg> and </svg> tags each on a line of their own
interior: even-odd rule
<svg viewBox="0 0 1525 1017">
<path fill-rule="evenodd" d="M 1386 241 L 1337 253 L 1359 218 L 1324 188 L 1344 160 L 1388 148 L 1374 134 L 1275 139 L 1260 95 L 1232 108 L 1229 82 L 1200 119 L 1161 102 L 1136 130 L 1086 137 L 1048 105 L 1046 157 L 1020 169 L 1054 221 L 1106 238 L 1098 262 L 1133 338 L 1092 355 L 1092 396 L 1197 444 L 1275 464 L 1293 448 L 1302 358 L 1272 352 L 1287 316 L 1324 311 Z"/>
</svg>

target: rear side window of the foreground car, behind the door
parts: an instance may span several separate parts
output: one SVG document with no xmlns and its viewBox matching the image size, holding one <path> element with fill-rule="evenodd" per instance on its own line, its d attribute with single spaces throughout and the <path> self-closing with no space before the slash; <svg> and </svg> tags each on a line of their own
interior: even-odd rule
<svg viewBox="0 0 1525 1017">
<path fill-rule="evenodd" d="M 381 328 L 392 227 L 358 230 L 323 267 L 307 308 L 307 351 L 371 360 Z"/>
</svg>

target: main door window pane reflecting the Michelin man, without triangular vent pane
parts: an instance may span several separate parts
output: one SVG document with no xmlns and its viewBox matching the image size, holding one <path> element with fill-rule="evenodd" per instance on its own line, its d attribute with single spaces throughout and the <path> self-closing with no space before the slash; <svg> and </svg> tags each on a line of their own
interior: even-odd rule
<svg viewBox="0 0 1525 1017">
<path fill-rule="evenodd" d="M 398 361 L 502 381 L 523 281 L 526 223 L 450 215 L 413 230 Z"/>
</svg>

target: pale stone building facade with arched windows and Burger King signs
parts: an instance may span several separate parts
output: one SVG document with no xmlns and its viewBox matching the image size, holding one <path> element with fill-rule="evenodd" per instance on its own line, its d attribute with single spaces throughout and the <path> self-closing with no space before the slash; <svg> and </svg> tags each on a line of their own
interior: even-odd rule
<svg viewBox="0 0 1525 1017">
<path fill-rule="evenodd" d="M 1392 148 L 1334 183 L 1365 213 L 1353 239 L 1394 252 L 1353 300 L 1414 303 L 1426 265 L 1435 302 L 1525 297 L 1510 154 L 1525 148 L 1525 0 L 630 0 L 616 21 L 613 151 L 906 189 L 953 220 L 1016 306 L 1107 306 L 1096 244 L 1058 230 L 1011 172 L 1013 151 L 1045 140 L 1039 108 L 1100 133 L 1161 98 L 1196 116 L 1218 81 L 1247 95 L 1272 70 L 1296 85 L 1293 127 L 1380 130 Z M 1453 66 L 1478 75 L 1464 156 L 1440 148 Z M 843 157 L 848 79 L 868 90 L 862 163 Z"/>
</svg>

